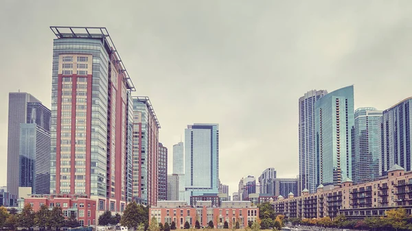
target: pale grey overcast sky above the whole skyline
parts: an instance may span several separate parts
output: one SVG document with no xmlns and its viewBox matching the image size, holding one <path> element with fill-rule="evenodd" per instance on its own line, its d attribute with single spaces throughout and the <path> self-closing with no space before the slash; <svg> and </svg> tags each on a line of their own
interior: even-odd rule
<svg viewBox="0 0 412 231">
<path fill-rule="evenodd" d="M 132 1 L 130 1 L 132 2 Z M 354 84 L 355 108 L 412 96 L 412 1 L 1 1 L 0 186 L 8 93 L 50 108 L 50 25 L 107 27 L 169 149 L 220 124 L 220 179 L 298 175 L 298 99 Z M 171 161 L 169 161 L 171 171 Z"/>
</svg>

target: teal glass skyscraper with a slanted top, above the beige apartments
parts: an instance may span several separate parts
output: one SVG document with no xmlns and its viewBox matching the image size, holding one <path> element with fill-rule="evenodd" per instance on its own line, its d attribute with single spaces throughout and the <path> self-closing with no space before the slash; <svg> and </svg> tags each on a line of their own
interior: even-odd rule
<svg viewBox="0 0 412 231">
<path fill-rule="evenodd" d="M 354 86 L 324 95 L 314 108 L 318 184 L 341 184 L 352 178 Z"/>
</svg>

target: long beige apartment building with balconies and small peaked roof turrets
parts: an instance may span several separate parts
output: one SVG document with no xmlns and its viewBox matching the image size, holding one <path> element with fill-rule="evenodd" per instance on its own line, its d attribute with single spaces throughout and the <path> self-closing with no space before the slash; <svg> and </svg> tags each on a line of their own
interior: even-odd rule
<svg viewBox="0 0 412 231">
<path fill-rule="evenodd" d="M 300 197 L 291 193 L 287 198 L 277 197 L 272 202 L 277 215 L 285 217 L 320 218 L 343 214 L 348 218 L 364 218 L 385 215 L 386 210 L 406 208 L 412 210 L 412 171 L 406 172 L 393 165 L 387 176 L 364 184 L 354 185 L 345 178 L 339 186 L 317 187 L 317 193 L 308 189 Z"/>
</svg>

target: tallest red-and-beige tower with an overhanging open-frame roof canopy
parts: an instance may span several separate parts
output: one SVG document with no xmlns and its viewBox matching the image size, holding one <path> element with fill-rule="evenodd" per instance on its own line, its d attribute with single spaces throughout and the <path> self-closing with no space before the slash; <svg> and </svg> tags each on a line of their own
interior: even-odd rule
<svg viewBox="0 0 412 231">
<path fill-rule="evenodd" d="M 131 91 L 104 27 L 50 27 L 53 45 L 51 193 L 85 194 L 98 210 L 130 201 Z"/>
</svg>

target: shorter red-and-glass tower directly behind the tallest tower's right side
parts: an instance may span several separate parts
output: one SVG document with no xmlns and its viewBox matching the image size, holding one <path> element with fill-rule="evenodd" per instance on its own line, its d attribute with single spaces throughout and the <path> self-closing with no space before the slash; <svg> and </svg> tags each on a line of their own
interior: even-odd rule
<svg viewBox="0 0 412 231">
<path fill-rule="evenodd" d="M 158 198 L 159 129 L 148 97 L 133 97 L 133 197 L 144 205 Z"/>
</svg>

